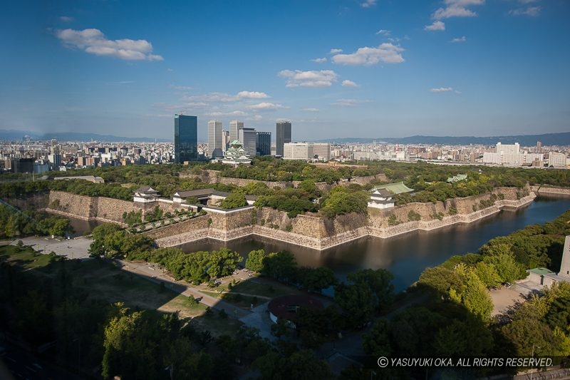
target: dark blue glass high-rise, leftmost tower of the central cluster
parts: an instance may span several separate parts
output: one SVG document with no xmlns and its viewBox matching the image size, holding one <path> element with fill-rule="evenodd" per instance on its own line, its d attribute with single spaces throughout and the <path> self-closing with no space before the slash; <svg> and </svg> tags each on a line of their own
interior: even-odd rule
<svg viewBox="0 0 570 380">
<path fill-rule="evenodd" d="M 185 163 L 198 159 L 198 118 L 174 115 L 174 162 Z"/>
</svg>

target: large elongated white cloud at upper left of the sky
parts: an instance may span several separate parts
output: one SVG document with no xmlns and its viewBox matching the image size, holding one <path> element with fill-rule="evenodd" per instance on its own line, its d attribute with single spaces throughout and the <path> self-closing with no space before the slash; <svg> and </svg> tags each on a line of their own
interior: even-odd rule
<svg viewBox="0 0 570 380">
<path fill-rule="evenodd" d="M 99 29 L 56 31 L 56 36 L 66 46 L 81 48 L 96 56 L 112 56 L 127 61 L 162 61 L 162 56 L 152 54 L 152 43 L 146 40 L 124 38 L 110 40 Z"/>
</svg>

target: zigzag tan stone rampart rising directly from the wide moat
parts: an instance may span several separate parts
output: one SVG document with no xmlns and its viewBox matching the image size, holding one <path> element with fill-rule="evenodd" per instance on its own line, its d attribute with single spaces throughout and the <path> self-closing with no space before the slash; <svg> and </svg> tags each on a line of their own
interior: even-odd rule
<svg viewBox="0 0 570 380">
<path fill-rule="evenodd" d="M 505 189 L 502 190 L 504 194 Z M 529 205 L 536 197 L 533 192 L 520 199 L 516 199 L 516 192 L 510 195 L 514 195 L 515 199 L 497 200 L 494 205 L 467 214 L 440 216 L 441 219 L 432 215 L 430 220 L 401 222 L 398 225 L 386 227 L 381 227 L 383 222 L 380 222 L 378 216 L 370 217 L 368 220 L 363 215 L 354 214 L 341 215 L 335 220 L 325 220 L 314 215 L 298 215 L 296 218 L 289 218 L 285 212 L 264 209 L 243 210 L 233 213 L 231 217 L 209 214 L 202 217 L 202 222 L 194 230 L 185 230 L 184 225 L 175 225 L 172 228 L 178 228 L 178 231 L 170 230 L 171 227 L 162 227 L 148 235 L 155 238 L 161 247 L 172 247 L 204 238 L 229 241 L 256 235 L 314 250 L 326 250 L 362 237 L 388 238 L 415 230 L 430 231 L 450 225 L 475 222 L 503 209 L 513 210 Z M 487 195 L 488 197 L 489 195 Z M 468 198 L 471 198 L 471 205 L 478 205 L 481 200 L 485 199 L 484 196 Z M 462 198 L 460 201 L 467 202 L 468 198 Z M 408 210 L 412 207 L 407 206 L 402 208 L 405 207 Z M 413 207 L 417 206 L 418 204 L 414 204 Z M 435 205 L 433 207 L 434 210 L 440 210 L 439 207 L 442 206 Z M 384 221 L 388 217 L 384 215 L 381 219 Z M 204 226 L 203 220 L 207 220 L 207 227 Z M 261 220 L 263 220 L 263 225 L 260 225 Z"/>
</svg>

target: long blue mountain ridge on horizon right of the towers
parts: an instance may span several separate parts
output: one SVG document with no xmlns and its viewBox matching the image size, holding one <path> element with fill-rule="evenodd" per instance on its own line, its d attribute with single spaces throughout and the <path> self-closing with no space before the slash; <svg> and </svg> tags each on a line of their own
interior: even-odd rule
<svg viewBox="0 0 570 380">
<path fill-rule="evenodd" d="M 332 138 L 320 140 L 322 143 L 392 143 L 392 144 L 426 144 L 426 145 L 495 145 L 497 143 L 514 144 L 521 146 L 536 146 L 537 141 L 542 145 L 570 145 L 570 132 L 544 133 L 543 135 L 515 135 L 515 136 L 421 136 L 415 135 L 404 138 Z"/>
</svg>

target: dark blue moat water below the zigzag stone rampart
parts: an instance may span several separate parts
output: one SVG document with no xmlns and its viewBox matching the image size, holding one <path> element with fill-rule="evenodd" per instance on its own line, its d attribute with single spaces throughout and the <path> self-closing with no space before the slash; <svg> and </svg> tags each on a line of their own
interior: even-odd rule
<svg viewBox="0 0 570 380">
<path fill-rule="evenodd" d="M 529 206 L 516 211 L 503 210 L 468 225 L 454 225 L 430 232 L 416 231 L 389 239 L 363 238 L 328 250 L 317 251 L 298 245 L 258 237 L 219 242 L 203 240 L 180 245 L 185 252 L 229 247 L 247 257 L 252 250 L 288 250 L 297 263 L 308 267 L 329 267 L 339 279 L 358 269 L 385 268 L 394 274 L 396 291 L 413 284 L 426 267 L 433 267 L 452 255 L 477 252 L 493 237 L 509 235 L 527 225 L 554 220 L 570 209 L 570 197 L 537 197 Z"/>
</svg>

